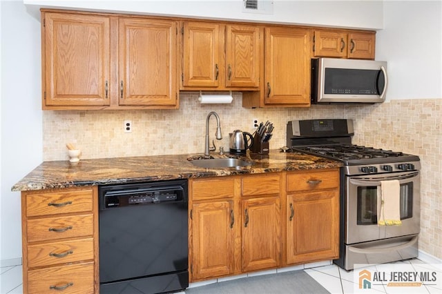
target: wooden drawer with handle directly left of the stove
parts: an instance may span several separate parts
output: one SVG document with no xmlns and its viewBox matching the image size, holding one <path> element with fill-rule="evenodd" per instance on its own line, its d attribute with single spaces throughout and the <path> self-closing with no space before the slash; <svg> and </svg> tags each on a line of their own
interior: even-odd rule
<svg viewBox="0 0 442 294">
<path fill-rule="evenodd" d="M 287 175 L 287 191 L 337 188 L 339 172 L 335 170 Z"/>
</svg>

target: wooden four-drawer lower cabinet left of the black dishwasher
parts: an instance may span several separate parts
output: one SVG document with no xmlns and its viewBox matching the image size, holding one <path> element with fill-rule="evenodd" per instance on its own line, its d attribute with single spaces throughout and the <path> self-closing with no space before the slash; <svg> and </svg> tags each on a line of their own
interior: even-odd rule
<svg viewBox="0 0 442 294">
<path fill-rule="evenodd" d="M 23 293 L 98 293 L 97 186 L 23 191 Z"/>
</svg>

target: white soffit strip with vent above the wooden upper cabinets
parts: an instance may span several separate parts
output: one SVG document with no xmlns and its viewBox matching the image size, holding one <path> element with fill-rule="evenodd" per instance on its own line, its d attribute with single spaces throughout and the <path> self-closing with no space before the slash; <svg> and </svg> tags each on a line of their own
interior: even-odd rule
<svg viewBox="0 0 442 294">
<path fill-rule="evenodd" d="M 277 23 L 341 26 L 348 28 L 383 28 L 382 1 L 295 1 L 273 2 L 273 13 L 242 12 L 242 0 L 144 0 L 144 1 L 42 1 L 24 0 L 32 6 L 86 9 L 108 12 L 135 12 L 197 18 L 249 20 Z"/>
</svg>

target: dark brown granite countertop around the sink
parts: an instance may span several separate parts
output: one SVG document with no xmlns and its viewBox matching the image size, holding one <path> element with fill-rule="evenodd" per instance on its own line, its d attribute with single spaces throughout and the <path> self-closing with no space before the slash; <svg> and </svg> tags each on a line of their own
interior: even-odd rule
<svg viewBox="0 0 442 294">
<path fill-rule="evenodd" d="M 313 155 L 282 153 L 279 150 L 271 150 L 269 155 L 254 153 L 247 153 L 247 155 L 211 153 L 211 155 L 215 158 L 241 158 L 252 161 L 253 165 L 240 168 L 199 168 L 193 166 L 189 159 L 202 157 L 202 154 L 81 159 L 77 164 L 70 164 L 68 160 L 44 161 L 12 186 L 12 190 L 41 190 L 166 179 L 258 174 L 282 170 L 336 168 L 342 165 L 338 161 Z"/>
</svg>

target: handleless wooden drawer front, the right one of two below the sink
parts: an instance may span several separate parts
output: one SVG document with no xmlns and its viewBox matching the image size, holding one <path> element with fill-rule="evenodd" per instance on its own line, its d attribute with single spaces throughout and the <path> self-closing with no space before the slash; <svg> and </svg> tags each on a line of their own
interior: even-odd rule
<svg viewBox="0 0 442 294">
<path fill-rule="evenodd" d="M 279 173 L 242 178 L 242 196 L 278 194 L 279 191 Z"/>
</svg>

